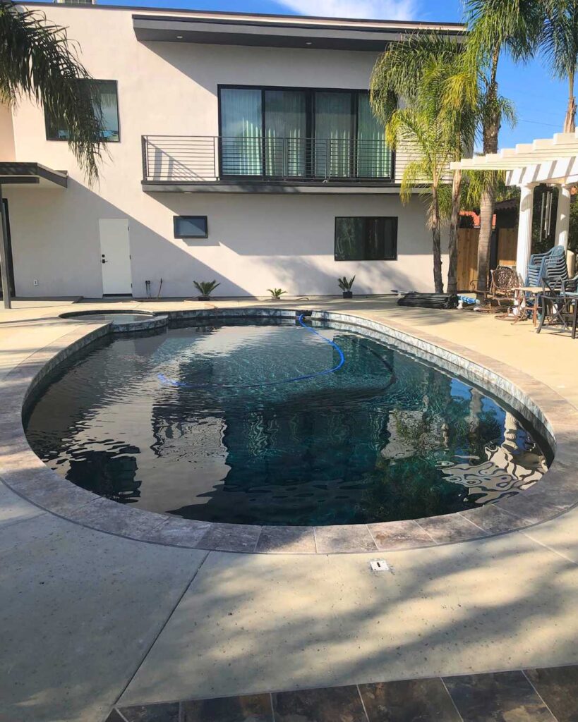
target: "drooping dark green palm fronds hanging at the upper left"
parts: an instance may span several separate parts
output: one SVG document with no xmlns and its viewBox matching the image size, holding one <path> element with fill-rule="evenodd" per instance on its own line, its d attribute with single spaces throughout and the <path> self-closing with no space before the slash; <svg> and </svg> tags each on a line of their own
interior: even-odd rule
<svg viewBox="0 0 578 722">
<path fill-rule="evenodd" d="M 79 82 L 82 80 L 82 82 Z M 98 87 L 77 57 L 64 27 L 37 11 L 0 0 L 0 101 L 21 97 L 59 118 L 68 143 L 90 182 L 98 179 L 103 141 Z"/>
</svg>

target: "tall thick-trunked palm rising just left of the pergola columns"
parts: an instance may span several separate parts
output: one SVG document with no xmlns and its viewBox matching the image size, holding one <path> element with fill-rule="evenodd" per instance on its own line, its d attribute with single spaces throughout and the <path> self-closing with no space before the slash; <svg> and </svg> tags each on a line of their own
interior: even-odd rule
<svg viewBox="0 0 578 722">
<path fill-rule="evenodd" d="M 512 106 L 498 92 L 498 64 L 504 51 L 517 61 L 532 56 L 544 24 L 541 0 L 466 0 L 465 14 L 469 34 L 465 61 L 470 72 L 467 82 L 480 71 L 479 108 L 482 122 L 483 152 L 498 152 L 498 135 L 504 114 L 513 116 Z M 496 199 L 496 174 L 488 173 L 480 197 L 480 235 L 478 239 L 478 294 L 487 290 L 493 206 Z"/>
</svg>

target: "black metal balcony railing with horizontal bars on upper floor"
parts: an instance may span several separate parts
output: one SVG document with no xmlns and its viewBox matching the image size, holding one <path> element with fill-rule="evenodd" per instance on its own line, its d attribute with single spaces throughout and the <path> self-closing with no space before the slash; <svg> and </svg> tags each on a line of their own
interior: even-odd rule
<svg viewBox="0 0 578 722">
<path fill-rule="evenodd" d="M 142 136 L 144 181 L 391 181 L 393 155 L 377 140 Z"/>
</svg>

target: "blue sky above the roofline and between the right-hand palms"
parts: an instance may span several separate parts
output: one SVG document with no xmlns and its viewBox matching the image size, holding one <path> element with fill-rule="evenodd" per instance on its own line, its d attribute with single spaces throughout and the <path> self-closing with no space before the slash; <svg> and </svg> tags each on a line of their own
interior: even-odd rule
<svg viewBox="0 0 578 722">
<path fill-rule="evenodd" d="M 100 0 L 103 4 L 175 7 L 198 10 L 308 14 L 397 20 L 460 22 L 460 0 Z M 551 79 L 539 60 L 525 66 L 502 58 L 499 68 L 502 95 L 514 101 L 518 123 L 504 126 L 500 147 L 512 147 L 561 131 L 566 112 L 566 85 Z"/>
</svg>

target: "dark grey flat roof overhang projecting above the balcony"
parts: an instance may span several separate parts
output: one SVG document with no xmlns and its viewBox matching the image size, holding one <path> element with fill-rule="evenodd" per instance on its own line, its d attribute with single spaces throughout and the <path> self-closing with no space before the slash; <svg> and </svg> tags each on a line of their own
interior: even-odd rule
<svg viewBox="0 0 578 722">
<path fill-rule="evenodd" d="M 387 21 L 352 21 L 314 17 L 234 14 L 132 16 L 137 40 L 169 43 L 254 45 L 269 48 L 383 51 L 387 43 L 408 32 L 436 30 L 462 35 L 457 23 L 426 24 Z"/>
</svg>

